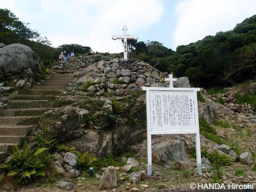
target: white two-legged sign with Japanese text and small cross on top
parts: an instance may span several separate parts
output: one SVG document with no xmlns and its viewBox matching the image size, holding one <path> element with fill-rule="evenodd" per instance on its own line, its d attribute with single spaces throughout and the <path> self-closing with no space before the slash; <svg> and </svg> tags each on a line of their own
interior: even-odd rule
<svg viewBox="0 0 256 192">
<path fill-rule="evenodd" d="M 200 88 L 142 87 L 147 101 L 148 175 L 152 175 L 152 134 L 195 134 L 197 171 L 202 172 L 198 122 L 197 91 Z"/>
</svg>

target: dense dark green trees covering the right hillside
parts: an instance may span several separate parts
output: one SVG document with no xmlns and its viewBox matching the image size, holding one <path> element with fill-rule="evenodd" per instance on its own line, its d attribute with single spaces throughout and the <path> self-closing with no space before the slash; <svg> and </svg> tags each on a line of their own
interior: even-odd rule
<svg viewBox="0 0 256 192">
<path fill-rule="evenodd" d="M 256 15 L 227 32 L 208 35 L 176 51 L 157 41 L 135 44 L 137 59 L 188 76 L 195 86 L 239 83 L 256 77 Z"/>
</svg>

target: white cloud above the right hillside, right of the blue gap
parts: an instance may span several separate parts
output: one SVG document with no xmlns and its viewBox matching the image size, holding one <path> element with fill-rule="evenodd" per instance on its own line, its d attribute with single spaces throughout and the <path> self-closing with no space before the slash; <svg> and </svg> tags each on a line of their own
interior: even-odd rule
<svg viewBox="0 0 256 192">
<path fill-rule="evenodd" d="M 174 48 L 216 32 L 232 30 L 256 14 L 256 0 L 183 0 L 176 6 Z"/>
</svg>

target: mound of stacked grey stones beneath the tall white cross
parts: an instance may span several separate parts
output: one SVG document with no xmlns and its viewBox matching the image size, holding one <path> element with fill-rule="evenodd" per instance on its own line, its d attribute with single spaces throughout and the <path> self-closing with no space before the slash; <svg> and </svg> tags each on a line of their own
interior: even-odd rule
<svg viewBox="0 0 256 192">
<path fill-rule="evenodd" d="M 76 81 L 70 85 L 69 91 L 77 92 L 77 88 L 85 92 L 95 92 L 101 95 L 105 91 L 123 94 L 125 90 L 141 90 L 146 87 L 168 87 L 165 82 L 167 72 L 160 72 L 150 64 L 142 61 L 130 61 L 124 59 L 111 59 L 99 61 L 86 67 L 85 70 L 73 74 Z M 90 83 L 88 89 L 83 89 L 83 84 Z M 93 82 L 93 83 L 92 83 Z M 174 87 L 191 87 L 187 77 L 178 78 Z"/>
</svg>

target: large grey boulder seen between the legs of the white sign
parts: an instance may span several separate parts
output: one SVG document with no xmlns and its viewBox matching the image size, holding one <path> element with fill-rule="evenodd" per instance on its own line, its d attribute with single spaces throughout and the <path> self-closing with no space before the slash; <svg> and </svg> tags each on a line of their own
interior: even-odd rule
<svg viewBox="0 0 256 192">
<path fill-rule="evenodd" d="M 152 145 L 152 151 L 158 154 L 161 161 L 175 160 L 187 163 L 184 141 L 160 142 Z"/>
</svg>

